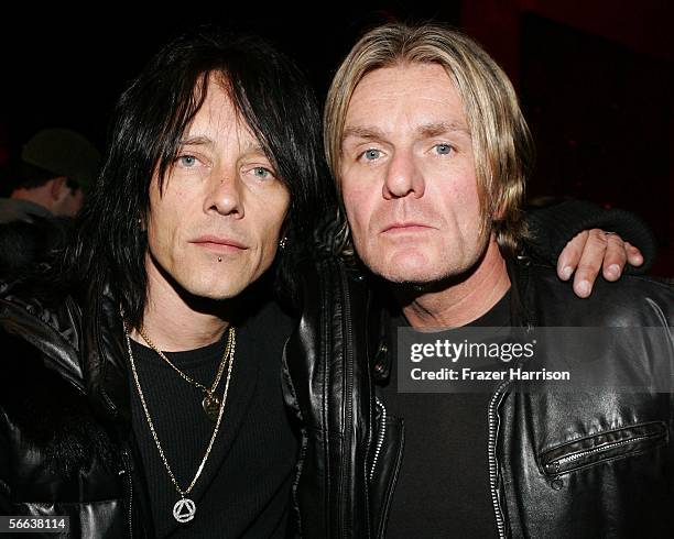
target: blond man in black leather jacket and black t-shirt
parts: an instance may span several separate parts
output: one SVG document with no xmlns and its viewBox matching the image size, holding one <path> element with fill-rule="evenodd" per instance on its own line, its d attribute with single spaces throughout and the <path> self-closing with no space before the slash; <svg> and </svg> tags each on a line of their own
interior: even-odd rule
<svg viewBox="0 0 674 539">
<path fill-rule="evenodd" d="M 453 30 L 377 28 L 339 67 L 324 130 L 348 218 L 337 223 L 338 240 L 374 276 L 326 262 L 315 279 L 322 292 L 304 283 L 339 306 L 314 315 L 329 319 L 323 341 L 341 342 L 331 355 L 313 349 L 308 377 L 304 364 L 289 362 L 307 422 L 295 493 L 305 535 L 670 535 L 671 387 L 648 384 L 674 364 L 674 294 L 626 277 L 599 279 L 580 300 L 559 278 L 568 278 L 564 263 L 557 276 L 522 251 L 533 145 L 499 66 Z M 611 266 L 604 274 L 612 280 Z M 326 287 L 330 279 L 337 284 Z M 362 299 L 367 284 L 376 293 Z M 580 295 L 590 287 L 576 276 Z M 301 343 L 324 327 L 312 321 L 301 324 Z M 504 382 L 481 391 L 404 393 L 409 359 L 402 348 L 395 353 L 403 332 L 422 339 L 433 328 L 490 327 L 509 339 L 536 326 L 661 330 L 654 340 L 637 331 L 594 365 L 600 378 L 646 385 L 530 392 L 503 378 L 496 359 L 486 372 Z M 564 351 L 574 342 L 556 344 Z M 286 345 L 291 360 L 296 345 Z"/>
</svg>

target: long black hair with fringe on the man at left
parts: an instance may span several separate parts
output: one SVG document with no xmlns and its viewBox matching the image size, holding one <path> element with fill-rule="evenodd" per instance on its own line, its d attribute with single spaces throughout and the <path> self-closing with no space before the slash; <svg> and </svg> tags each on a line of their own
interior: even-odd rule
<svg viewBox="0 0 674 539">
<path fill-rule="evenodd" d="M 199 28 L 164 46 L 122 94 L 96 188 L 80 212 L 63 264 L 70 283 L 110 283 L 128 321 L 142 321 L 146 237 L 153 173 L 160 186 L 180 140 L 206 98 L 209 75 L 222 76 L 291 204 L 276 283 L 292 296 L 295 263 L 311 249 L 317 219 L 334 204 L 324 164 L 320 117 L 296 65 L 263 40 Z"/>
</svg>

